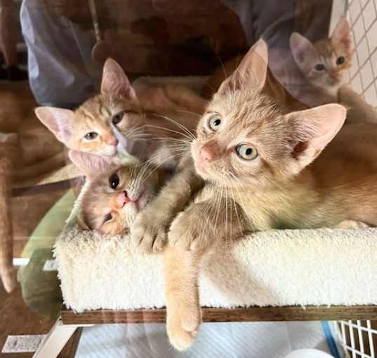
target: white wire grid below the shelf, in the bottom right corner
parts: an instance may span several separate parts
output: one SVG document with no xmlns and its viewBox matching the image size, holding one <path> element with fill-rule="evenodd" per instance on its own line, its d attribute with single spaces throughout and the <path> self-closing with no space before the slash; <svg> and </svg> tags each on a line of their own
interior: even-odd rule
<svg viewBox="0 0 377 358">
<path fill-rule="evenodd" d="M 343 357 L 375 358 L 377 353 L 377 323 L 371 321 L 333 321 L 338 345 Z"/>
</svg>

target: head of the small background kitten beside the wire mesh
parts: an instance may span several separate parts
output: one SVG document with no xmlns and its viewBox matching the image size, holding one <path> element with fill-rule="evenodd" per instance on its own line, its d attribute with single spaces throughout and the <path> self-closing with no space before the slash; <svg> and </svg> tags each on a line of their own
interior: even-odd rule
<svg viewBox="0 0 377 358">
<path fill-rule="evenodd" d="M 294 32 L 289 41 L 293 59 L 305 79 L 315 87 L 336 94 L 343 84 L 345 69 L 352 60 L 350 25 L 340 18 L 331 37 L 314 44 Z"/>
</svg>

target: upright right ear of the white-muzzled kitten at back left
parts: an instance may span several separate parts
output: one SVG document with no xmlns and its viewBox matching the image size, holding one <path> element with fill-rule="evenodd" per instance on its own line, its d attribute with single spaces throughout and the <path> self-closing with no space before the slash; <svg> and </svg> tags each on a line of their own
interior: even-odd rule
<svg viewBox="0 0 377 358">
<path fill-rule="evenodd" d="M 107 58 L 103 66 L 101 93 L 123 95 L 127 99 L 135 99 L 136 94 L 124 70 L 112 58 Z"/>
</svg>

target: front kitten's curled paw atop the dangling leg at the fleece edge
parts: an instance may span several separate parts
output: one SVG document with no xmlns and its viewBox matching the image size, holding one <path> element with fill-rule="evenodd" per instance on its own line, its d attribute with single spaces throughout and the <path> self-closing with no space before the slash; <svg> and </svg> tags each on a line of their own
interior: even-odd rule
<svg viewBox="0 0 377 358">
<path fill-rule="evenodd" d="M 201 251 L 209 246 L 211 234 L 201 225 L 200 220 L 196 220 L 190 210 L 187 210 L 179 213 L 171 223 L 168 241 L 171 246 L 182 250 Z"/>
</svg>

